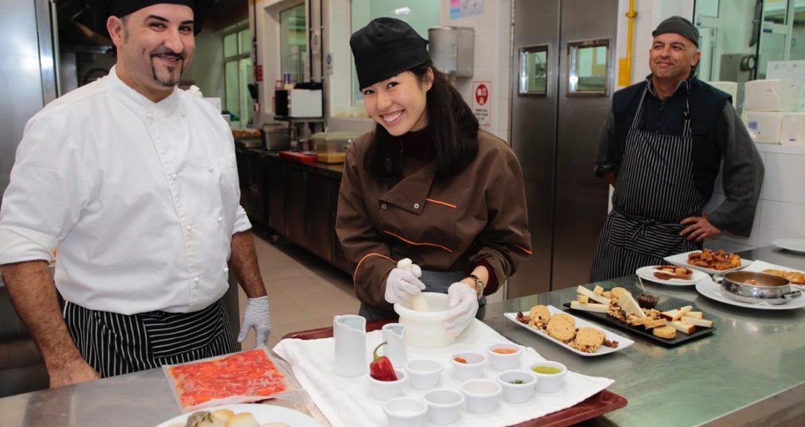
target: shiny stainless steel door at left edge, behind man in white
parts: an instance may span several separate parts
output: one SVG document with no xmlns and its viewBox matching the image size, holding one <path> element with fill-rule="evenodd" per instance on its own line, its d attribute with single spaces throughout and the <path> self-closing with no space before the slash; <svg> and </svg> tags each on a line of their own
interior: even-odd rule
<svg viewBox="0 0 805 427">
<path fill-rule="evenodd" d="M 29 118 L 56 98 L 50 4 L 0 0 L 0 194 L 6 192 L 14 153 Z"/>
</svg>

